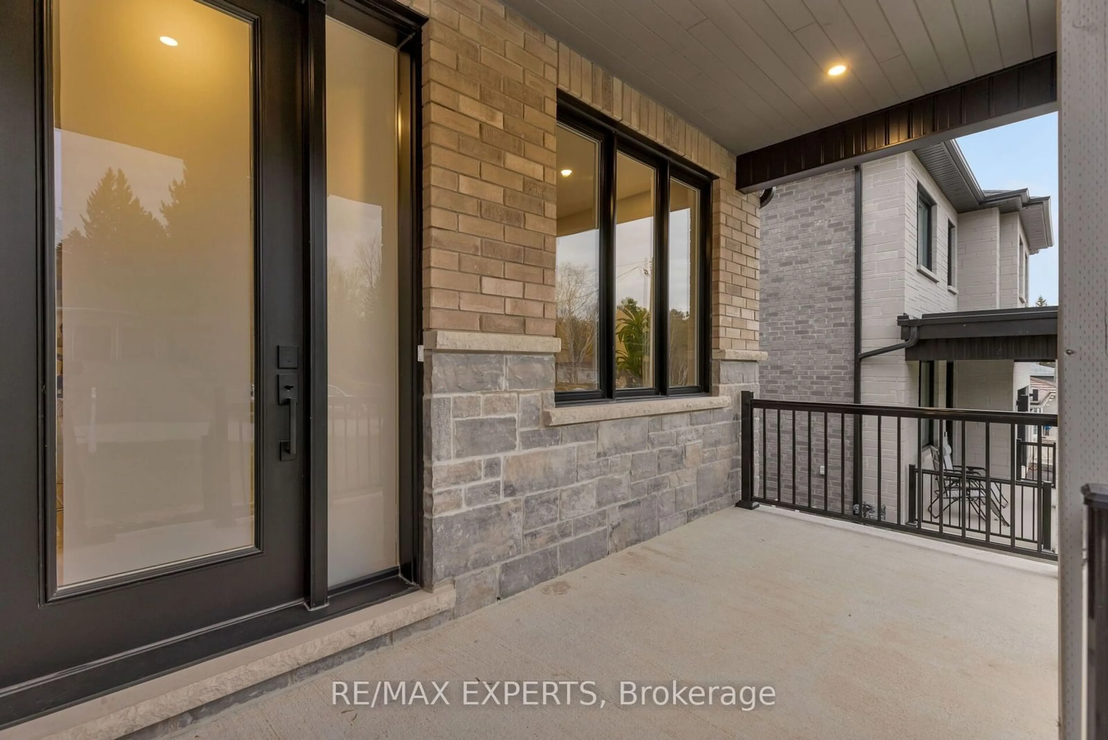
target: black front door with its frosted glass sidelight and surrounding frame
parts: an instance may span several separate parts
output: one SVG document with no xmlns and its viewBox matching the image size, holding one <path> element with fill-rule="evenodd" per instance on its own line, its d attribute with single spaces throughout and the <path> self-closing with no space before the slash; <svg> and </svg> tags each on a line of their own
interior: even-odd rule
<svg viewBox="0 0 1108 740">
<path fill-rule="evenodd" d="M 422 19 L 0 23 L 0 728 L 420 582 Z"/>
</svg>

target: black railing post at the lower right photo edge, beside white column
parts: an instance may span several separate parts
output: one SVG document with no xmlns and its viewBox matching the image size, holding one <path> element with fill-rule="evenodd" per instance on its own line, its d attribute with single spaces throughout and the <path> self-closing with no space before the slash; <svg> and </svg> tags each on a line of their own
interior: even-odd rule
<svg viewBox="0 0 1108 740">
<path fill-rule="evenodd" d="M 1087 737 L 1108 729 L 1108 485 L 1081 486 L 1088 508 L 1088 669 L 1086 676 Z M 1098 680 L 1099 679 L 1099 680 Z"/>
</svg>

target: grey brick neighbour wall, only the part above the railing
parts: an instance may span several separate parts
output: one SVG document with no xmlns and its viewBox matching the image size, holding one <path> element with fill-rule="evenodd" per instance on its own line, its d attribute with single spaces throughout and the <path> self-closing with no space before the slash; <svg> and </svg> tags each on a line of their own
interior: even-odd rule
<svg viewBox="0 0 1108 740">
<path fill-rule="evenodd" d="M 762 208 L 761 394 L 850 403 L 854 347 L 854 172 L 774 189 Z"/>
</svg>

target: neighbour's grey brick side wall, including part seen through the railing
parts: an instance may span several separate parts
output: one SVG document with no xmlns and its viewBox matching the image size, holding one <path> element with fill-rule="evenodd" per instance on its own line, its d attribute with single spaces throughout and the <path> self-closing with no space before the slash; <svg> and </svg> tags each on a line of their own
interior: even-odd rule
<svg viewBox="0 0 1108 740">
<path fill-rule="evenodd" d="M 850 403 L 854 172 L 840 169 L 779 186 L 761 215 L 761 338 L 769 359 L 759 368 L 759 394 Z M 822 414 L 809 421 L 807 413 L 779 419 L 770 412 L 756 420 L 765 439 L 758 485 L 768 499 L 817 508 L 827 504 L 832 511 L 841 511 L 845 500 L 849 506 L 853 430 L 849 419 L 845 430 L 838 417 L 825 421 L 824 434 Z"/>
</svg>

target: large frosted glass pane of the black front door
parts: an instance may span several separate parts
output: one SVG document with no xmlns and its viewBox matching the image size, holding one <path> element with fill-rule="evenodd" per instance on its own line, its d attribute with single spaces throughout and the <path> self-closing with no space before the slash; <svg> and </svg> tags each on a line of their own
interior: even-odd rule
<svg viewBox="0 0 1108 740">
<path fill-rule="evenodd" d="M 253 55 L 192 0 L 51 30 L 64 586 L 254 544 Z"/>
</svg>

